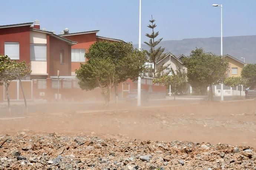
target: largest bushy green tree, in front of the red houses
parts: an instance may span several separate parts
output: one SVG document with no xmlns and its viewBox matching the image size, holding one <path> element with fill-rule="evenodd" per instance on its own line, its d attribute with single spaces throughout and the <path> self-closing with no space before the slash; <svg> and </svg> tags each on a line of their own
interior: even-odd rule
<svg viewBox="0 0 256 170">
<path fill-rule="evenodd" d="M 82 64 L 81 68 L 76 71 L 78 75 L 78 79 L 80 80 L 81 88 L 86 90 L 91 90 L 95 87 L 101 87 L 102 89 L 108 87 L 115 88 L 116 95 L 116 103 L 118 102 L 118 84 L 126 81 L 127 79 L 135 80 L 138 76 L 142 76 L 145 71 L 145 61 L 147 60 L 145 52 L 141 52 L 132 47 L 131 43 L 124 42 L 107 42 L 107 41 L 98 41 L 95 44 L 91 45 L 88 53 L 85 54 L 86 58 L 89 59 L 88 63 Z M 92 60 L 92 61 L 90 61 Z M 108 86 L 105 83 L 101 76 L 104 74 L 99 74 L 100 70 L 93 70 L 91 66 L 95 65 L 96 62 L 99 61 L 101 64 L 107 64 L 109 69 L 106 71 L 111 71 L 111 85 L 110 79 L 108 80 Z M 91 70 L 85 69 L 86 67 L 91 68 Z M 112 67 L 114 67 L 114 73 L 112 73 Z M 97 82 L 98 84 L 93 85 L 93 77 L 91 79 L 86 78 L 86 76 L 91 76 L 91 74 L 95 74 L 94 72 L 98 72 Z M 86 74 L 85 74 L 86 73 Z M 103 83 L 103 84 L 102 84 Z M 104 85 L 105 84 L 105 85 Z M 92 86 L 93 85 L 93 86 Z M 109 99 L 111 97 L 111 89 L 109 89 Z M 107 95 L 108 98 L 108 95 Z"/>
</svg>

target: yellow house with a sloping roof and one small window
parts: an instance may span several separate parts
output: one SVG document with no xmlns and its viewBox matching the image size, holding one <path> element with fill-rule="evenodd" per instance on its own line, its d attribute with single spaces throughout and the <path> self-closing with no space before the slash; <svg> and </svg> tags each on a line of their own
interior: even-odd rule
<svg viewBox="0 0 256 170">
<path fill-rule="evenodd" d="M 240 61 L 239 59 L 236 59 L 232 57 L 229 54 L 224 55 L 223 58 L 226 58 L 227 61 L 229 61 L 229 70 L 227 72 L 227 75 L 229 77 L 239 77 L 241 76 L 241 71 L 245 65 L 244 62 Z"/>
</svg>

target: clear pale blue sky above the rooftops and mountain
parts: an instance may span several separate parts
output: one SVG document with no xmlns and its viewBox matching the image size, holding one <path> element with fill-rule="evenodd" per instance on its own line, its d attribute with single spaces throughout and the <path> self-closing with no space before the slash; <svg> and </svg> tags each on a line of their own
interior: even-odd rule
<svg viewBox="0 0 256 170">
<path fill-rule="evenodd" d="M 256 0 L 142 0 L 142 42 L 156 20 L 163 40 L 256 34 Z M 1 0 L 0 25 L 40 21 L 41 29 L 70 33 L 100 30 L 98 35 L 138 43 L 139 0 Z"/>
</svg>

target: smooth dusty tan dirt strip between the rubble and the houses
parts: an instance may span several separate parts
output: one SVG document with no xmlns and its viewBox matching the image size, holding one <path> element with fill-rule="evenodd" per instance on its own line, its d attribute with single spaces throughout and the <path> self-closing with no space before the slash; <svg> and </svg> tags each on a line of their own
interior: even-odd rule
<svg viewBox="0 0 256 170">
<path fill-rule="evenodd" d="M 114 103 L 29 104 L 0 108 L 0 134 L 16 132 L 94 135 L 128 141 L 192 141 L 256 147 L 256 101 L 150 101 L 138 108 Z"/>
</svg>

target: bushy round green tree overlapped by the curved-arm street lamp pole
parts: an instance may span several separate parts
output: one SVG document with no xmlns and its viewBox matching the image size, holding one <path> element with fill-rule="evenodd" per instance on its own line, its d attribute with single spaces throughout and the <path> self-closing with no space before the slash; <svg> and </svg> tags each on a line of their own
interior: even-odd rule
<svg viewBox="0 0 256 170">
<path fill-rule="evenodd" d="M 191 51 L 189 58 L 183 59 L 187 67 L 188 82 L 194 88 L 210 86 L 209 100 L 213 101 L 212 86 L 220 84 L 226 78 L 229 63 L 221 56 L 205 53 L 202 48 Z"/>
</svg>

